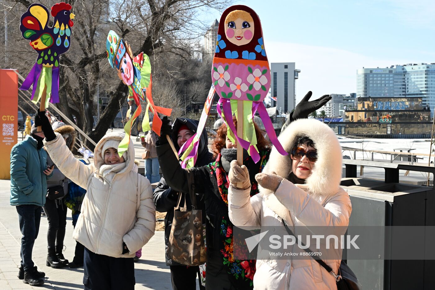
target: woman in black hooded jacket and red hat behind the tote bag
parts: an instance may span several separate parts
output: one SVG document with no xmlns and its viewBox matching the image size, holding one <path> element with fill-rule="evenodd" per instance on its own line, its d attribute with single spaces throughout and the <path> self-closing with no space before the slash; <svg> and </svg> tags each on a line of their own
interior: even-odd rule
<svg viewBox="0 0 435 290">
<path fill-rule="evenodd" d="M 177 118 L 172 125 L 171 139 L 174 142 L 174 146 L 177 150 L 197 131 L 198 121 L 191 119 Z M 172 151 L 171 151 L 172 152 Z M 174 153 L 172 153 L 174 155 Z M 174 156 L 175 157 L 175 156 Z M 196 166 L 203 166 L 213 162 L 213 154 L 208 151 L 208 138 L 207 132 L 204 130 L 201 135 L 201 139 L 198 147 L 198 158 Z M 174 207 L 177 205 L 179 192 L 173 190 L 167 185 L 164 178 L 160 179 L 156 189 L 154 190 L 154 205 L 159 212 L 167 212 L 164 225 L 165 225 L 165 259 L 166 265 L 171 269 L 171 281 L 174 290 L 191 290 L 195 289 L 196 277 L 200 281 L 200 289 L 204 289 L 201 286 L 201 277 L 199 266 L 185 266 L 171 260 L 167 254 L 167 245 L 169 234 L 171 233 L 172 220 L 174 219 Z M 184 204 L 184 200 L 181 200 L 181 205 Z M 204 208 L 204 201 L 200 198 L 197 199 L 197 205 L 199 209 Z M 190 208 L 191 201 L 187 198 L 187 206 Z"/>
</svg>

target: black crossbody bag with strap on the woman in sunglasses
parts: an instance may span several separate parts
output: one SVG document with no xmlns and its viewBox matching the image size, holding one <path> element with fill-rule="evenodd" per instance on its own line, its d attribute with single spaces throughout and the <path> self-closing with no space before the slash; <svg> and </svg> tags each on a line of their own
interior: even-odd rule
<svg viewBox="0 0 435 290">
<path fill-rule="evenodd" d="M 282 223 L 284 224 L 285 230 L 291 236 L 294 236 L 296 239 L 296 243 L 298 243 L 298 236 L 296 236 L 291 229 L 287 226 L 284 219 L 282 219 Z M 302 246 L 305 244 L 301 243 Z M 313 253 L 309 248 L 303 249 L 307 253 Z M 311 255 L 311 258 L 317 261 L 320 266 L 324 267 L 332 276 L 335 277 L 335 281 L 337 281 L 337 290 L 361 290 L 362 286 L 358 281 L 355 273 L 352 272 L 351 268 L 346 265 L 345 262 L 341 261 L 340 267 L 338 268 L 338 273 L 335 274 L 334 270 L 330 266 L 328 266 L 323 260 L 319 259 L 315 255 Z"/>
</svg>

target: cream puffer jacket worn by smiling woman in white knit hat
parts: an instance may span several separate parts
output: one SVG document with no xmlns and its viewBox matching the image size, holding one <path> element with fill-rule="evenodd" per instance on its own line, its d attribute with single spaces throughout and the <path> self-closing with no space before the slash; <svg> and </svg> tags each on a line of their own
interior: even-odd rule
<svg viewBox="0 0 435 290">
<path fill-rule="evenodd" d="M 101 149 L 108 140 L 120 141 L 124 135 L 105 135 L 94 150 L 94 164 L 84 165 L 69 151 L 65 141 L 45 142 L 47 152 L 61 172 L 87 190 L 81 214 L 74 229 L 74 239 L 88 250 L 110 257 L 134 257 L 155 229 L 155 207 L 150 182 L 134 172 L 134 146 L 130 142 L 125 168 L 107 182 L 99 173 L 104 160 Z M 130 252 L 122 254 L 122 243 Z"/>
</svg>

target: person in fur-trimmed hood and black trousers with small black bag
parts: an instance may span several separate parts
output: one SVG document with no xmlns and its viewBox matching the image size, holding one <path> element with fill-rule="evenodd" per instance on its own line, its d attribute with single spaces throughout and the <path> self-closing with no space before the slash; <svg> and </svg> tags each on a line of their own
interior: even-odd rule
<svg viewBox="0 0 435 290">
<path fill-rule="evenodd" d="M 68 149 L 71 151 L 74 148 L 76 140 L 76 130 L 70 125 L 56 121 L 51 125 L 54 132 L 58 132 L 65 140 Z M 47 162 L 49 165 L 54 164 L 47 155 Z M 55 190 L 56 187 L 61 186 L 63 192 L 60 193 L 60 197 L 57 199 L 47 198 L 45 206 L 43 206 L 45 215 L 48 220 L 47 231 L 47 266 L 52 268 L 60 268 L 66 266 L 69 261 L 65 259 L 62 250 L 64 248 L 65 228 L 67 226 L 67 207 L 65 206 L 65 196 L 68 193 L 69 179 L 54 166 L 53 176 L 47 182 L 47 189 Z"/>
</svg>

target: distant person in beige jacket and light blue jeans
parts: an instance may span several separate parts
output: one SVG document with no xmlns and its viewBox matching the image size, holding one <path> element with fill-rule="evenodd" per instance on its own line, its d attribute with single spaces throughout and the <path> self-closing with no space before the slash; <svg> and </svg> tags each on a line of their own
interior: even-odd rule
<svg viewBox="0 0 435 290">
<path fill-rule="evenodd" d="M 153 122 L 150 122 L 150 131 L 144 138 L 141 138 L 142 147 L 145 148 L 142 159 L 145 159 L 145 177 L 151 183 L 156 183 L 160 180 L 160 165 L 156 151 L 157 134 L 152 129 Z"/>
</svg>

